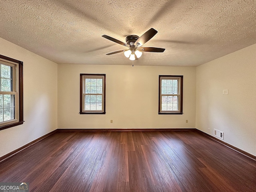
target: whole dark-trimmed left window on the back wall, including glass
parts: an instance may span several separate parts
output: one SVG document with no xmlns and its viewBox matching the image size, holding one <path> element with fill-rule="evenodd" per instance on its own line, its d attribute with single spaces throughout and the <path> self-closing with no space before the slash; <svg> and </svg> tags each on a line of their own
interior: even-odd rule
<svg viewBox="0 0 256 192">
<path fill-rule="evenodd" d="M 80 74 L 80 114 L 106 114 L 106 74 Z"/>
</svg>

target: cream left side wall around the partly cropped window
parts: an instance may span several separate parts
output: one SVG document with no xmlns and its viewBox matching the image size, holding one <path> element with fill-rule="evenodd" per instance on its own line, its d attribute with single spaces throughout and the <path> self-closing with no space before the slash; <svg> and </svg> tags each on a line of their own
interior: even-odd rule
<svg viewBox="0 0 256 192">
<path fill-rule="evenodd" d="M 57 128 L 58 65 L 0 38 L 0 54 L 23 61 L 24 124 L 0 130 L 3 156 Z"/>
</svg>

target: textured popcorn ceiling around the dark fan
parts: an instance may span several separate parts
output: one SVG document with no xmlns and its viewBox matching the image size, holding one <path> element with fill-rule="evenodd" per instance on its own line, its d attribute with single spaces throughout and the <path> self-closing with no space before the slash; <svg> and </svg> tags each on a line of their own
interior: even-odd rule
<svg viewBox="0 0 256 192">
<path fill-rule="evenodd" d="M 158 31 L 135 65 L 198 66 L 256 43 L 256 0 L 0 0 L 0 37 L 56 63 L 121 64 L 130 34 Z M 1 53 L 0 53 L 1 54 Z"/>
</svg>

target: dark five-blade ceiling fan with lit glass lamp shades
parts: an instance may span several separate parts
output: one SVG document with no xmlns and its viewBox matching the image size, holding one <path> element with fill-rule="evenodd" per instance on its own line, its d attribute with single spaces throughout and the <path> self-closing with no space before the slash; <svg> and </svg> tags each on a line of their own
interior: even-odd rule
<svg viewBox="0 0 256 192">
<path fill-rule="evenodd" d="M 115 38 L 112 38 L 107 35 L 102 35 L 102 37 L 116 42 L 122 46 L 126 46 L 129 48 L 128 50 L 119 50 L 115 52 L 108 53 L 106 55 L 112 55 L 120 52 L 124 52 L 124 55 L 130 60 L 136 60 L 140 58 L 142 55 L 142 52 L 164 52 L 165 49 L 163 48 L 157 48 L 157 47 L 141 47 L 144 43 L 148 42 L 152 37 L 154 37 L 157 34 L 157 30 L 151 28 L 148 31 L 146 31 L 142 36 L 137 36 L 137 35 L 128 35 L 125 38 L 126 43 L 117 40 Z"/>
</svg>

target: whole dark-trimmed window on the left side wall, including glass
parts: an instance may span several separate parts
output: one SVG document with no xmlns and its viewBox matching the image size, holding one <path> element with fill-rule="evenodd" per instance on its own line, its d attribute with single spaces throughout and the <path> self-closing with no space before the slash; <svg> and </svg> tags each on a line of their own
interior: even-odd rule
<svg viewBox="0 0 256 192">
<path fill-rule="evenodd" d="M 0 55 L 0 130 L 23 124 L 23 62 Z"/>
</svg>

